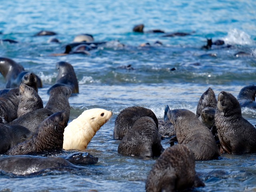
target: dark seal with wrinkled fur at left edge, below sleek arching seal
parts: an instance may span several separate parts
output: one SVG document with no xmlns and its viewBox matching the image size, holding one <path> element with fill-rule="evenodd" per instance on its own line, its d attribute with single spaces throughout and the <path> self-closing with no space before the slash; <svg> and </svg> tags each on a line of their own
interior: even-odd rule
<svg viewBox="0 0 256 192">
<path fill-rule="evenodd" d="M 14 88 L 0 97 L 0 123 L 6 124 L 17 118 L 19 96 L 19 89 Z"/>
</svg>

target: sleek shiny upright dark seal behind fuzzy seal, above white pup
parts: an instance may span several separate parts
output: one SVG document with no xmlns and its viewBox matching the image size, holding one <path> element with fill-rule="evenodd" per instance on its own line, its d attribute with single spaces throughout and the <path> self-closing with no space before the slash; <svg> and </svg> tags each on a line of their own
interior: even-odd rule
<svg viewBox="0 0 256 192">
<path fill-rule="evenodd" d="M 79 93 L 78 80 L 73 66 L 68 62 L 58 62 L 56 67 L 58 68 L 58 76 L 53 86 L 48 89 L 47 93 L 50 93 L 52 88 L 57 86 L 67 86 L 71 89 L 72 93 Z"/>
</svg>

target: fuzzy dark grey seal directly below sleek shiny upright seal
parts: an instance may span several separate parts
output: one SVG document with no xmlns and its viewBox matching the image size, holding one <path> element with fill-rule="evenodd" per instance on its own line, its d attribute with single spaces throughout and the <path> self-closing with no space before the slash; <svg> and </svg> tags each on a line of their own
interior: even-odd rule
<svg viewBox="0 0 256 192">
<path fill-rule="evenodd" d="M 50 91 L 49 100 L 44 108 L 51 110 L 53 113 L 65 110 L 70 114 L 70 104 L 68 99 L 70 98 L 72 91 L 69 87 L 58 86 Z"/>
</svg>

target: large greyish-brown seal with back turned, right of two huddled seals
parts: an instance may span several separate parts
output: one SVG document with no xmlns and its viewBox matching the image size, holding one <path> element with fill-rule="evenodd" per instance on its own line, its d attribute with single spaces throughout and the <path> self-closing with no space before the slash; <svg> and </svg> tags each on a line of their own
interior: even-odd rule
<svg viewBox="0 0 256 192">
<path fill-rule="evenodd" d="M 186 144 L 196 160 L 212 160 L 220 156 L 214 136 L 196 114 L 186 109 L 168 111 L 179 144 Z"/>
</svg>

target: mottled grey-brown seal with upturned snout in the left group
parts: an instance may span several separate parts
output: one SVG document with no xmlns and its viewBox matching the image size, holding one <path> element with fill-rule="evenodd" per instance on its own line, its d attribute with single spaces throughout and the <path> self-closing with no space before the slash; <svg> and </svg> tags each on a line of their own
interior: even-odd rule
<svg viewBox="0 0 256 192">
<path fill-rule="evenodd" d="M 43 101 L 36 90 L 26 84 L 20 84 L 20 102 L 17 110 L 17 117 L 32 112 L 36 109 L 44 108 Z"/>
</svg>

